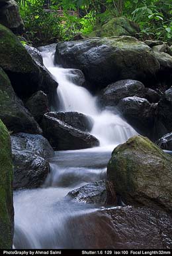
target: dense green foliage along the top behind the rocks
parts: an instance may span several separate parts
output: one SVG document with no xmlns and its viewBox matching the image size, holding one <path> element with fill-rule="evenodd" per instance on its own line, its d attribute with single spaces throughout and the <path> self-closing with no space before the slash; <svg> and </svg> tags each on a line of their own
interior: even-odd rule
<svg viewBox="0 0 172 256">
<path fill-rule="evenodd" d="M 27 39 L 34 44 L 89 35 L 112 17 L 125 16 L 140 25 L 140 39 L 172 39 L 171 0 L 18 0 Z M 57 10 L 62 8 L 63 17 Z M 47 9 L 49 11 L 47 11 Z M 79 15 L 69 15 L 74 10 Z"/>
</svg>

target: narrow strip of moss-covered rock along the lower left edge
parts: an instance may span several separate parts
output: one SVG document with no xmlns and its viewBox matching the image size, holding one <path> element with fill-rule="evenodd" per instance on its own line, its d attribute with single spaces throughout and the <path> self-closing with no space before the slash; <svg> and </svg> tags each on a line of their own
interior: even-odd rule
<svg viewBox="0 0 172 256">
<path fill-rule="evenodd" d="M 13 166 L 9 132 L 0 120 L 0 248 L 13 243 Z"/>
</svg>

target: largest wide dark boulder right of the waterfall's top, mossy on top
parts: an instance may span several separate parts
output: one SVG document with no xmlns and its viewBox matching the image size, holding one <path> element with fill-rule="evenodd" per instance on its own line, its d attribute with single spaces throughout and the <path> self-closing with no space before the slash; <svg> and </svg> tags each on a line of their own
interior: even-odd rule
<svg viewBox="0 0 172 256">
<path fill-rule="evenodd" d="M 159 70 L 151 48 L 127 36 L 58 43 L 55 61 L 67 68 L 81 69 L 92 84 L 91 90 L 122 79 L 139 80 L 148 85 Z"/>
</svg>

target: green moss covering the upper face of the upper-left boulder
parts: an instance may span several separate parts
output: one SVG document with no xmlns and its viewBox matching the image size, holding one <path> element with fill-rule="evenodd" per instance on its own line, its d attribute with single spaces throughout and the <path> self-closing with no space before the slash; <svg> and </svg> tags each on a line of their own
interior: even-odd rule
<svg viewBox="0 0 172 256">
<path fill-rule="evenodd" d="M 0 66 L 13 72 L 34 72 L 34 64 L 17 37 L 0 25 Z"/>
</svg>

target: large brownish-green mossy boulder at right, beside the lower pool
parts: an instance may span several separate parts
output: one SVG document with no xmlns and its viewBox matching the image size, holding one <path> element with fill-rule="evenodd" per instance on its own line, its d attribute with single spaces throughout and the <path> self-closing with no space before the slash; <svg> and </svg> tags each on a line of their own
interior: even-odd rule
<svg viewBox="0 0 172 256">
<path fill-rule="evenodd" d="M 148 138 L 134 136 L 117 146 L 107 179 L 126 204 L 172 211 L 172 157 Z"/>
</svg>

